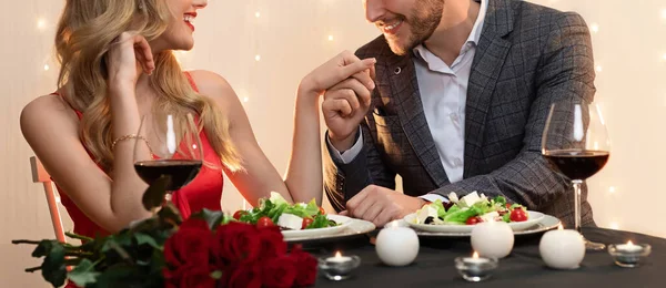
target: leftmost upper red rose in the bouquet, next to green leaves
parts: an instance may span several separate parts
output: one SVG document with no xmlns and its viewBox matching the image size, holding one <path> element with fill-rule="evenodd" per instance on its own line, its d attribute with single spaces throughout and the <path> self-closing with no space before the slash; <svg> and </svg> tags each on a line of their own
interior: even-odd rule
<svg viewBox="0 0 666 288">
<path fill-rule="evenodd" d="M 211 247 L 212 232 L 205 220 L 190 218 L 164 243 L 164 259 L 172 270 L 188 264 L 208 264 Z"/>
</svg>

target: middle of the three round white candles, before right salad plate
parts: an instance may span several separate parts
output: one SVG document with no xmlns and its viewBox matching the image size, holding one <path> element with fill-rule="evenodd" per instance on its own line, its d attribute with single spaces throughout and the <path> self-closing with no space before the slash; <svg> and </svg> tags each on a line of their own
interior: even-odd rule
<svg viewBox="0 0 666 288">
<path fill-rule="evenodd" d="M 472 229 L 472 248 L 483 257 L 504 258 L 514 245 L 513 230 L 504 222 L 484 222 Z"/>
</svg>

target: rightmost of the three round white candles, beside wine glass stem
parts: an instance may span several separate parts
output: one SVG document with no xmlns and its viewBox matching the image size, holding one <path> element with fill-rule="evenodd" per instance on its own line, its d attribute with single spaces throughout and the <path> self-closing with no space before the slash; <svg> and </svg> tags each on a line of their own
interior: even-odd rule
<svg viewBox="0 0 666 288">
<path fill-rule="evenodd" d="M 571 229 L 563 229 L 544 234 L 538 245 L 542 259 L 551 268 L 577 269 L 585 257 L 585 240 L 583 236 Z"/>
</svg>

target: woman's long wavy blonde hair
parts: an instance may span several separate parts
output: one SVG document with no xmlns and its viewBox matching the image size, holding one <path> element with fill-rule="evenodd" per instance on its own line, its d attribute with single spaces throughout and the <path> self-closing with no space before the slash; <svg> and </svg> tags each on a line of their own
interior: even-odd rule
<svg viewBox="0 0 666 288">
<path fill-rule="evenodd" d="M 172 18 L 164 0 L 67 1 L 56 34 L 61 64 L 58 88 L 65 88 L 65 101 L 83 112 L 81 141 L 107 172 L 113 169 L 105 65 L 110 43 L 130 29 L 150 42 L 164 33 Z M 153 113 L 173 114 L 176 119 L 196 113 L 199 130 L 205 131 L 222 164 L 231 171 L 240 169 L 241 160 L 230 141 L 229 123 L 215 112 L 215 103 L 192 89 L 172 51 L 153 56 L 155 70 L 150 84 L 159 94 Z"/>
</svg>

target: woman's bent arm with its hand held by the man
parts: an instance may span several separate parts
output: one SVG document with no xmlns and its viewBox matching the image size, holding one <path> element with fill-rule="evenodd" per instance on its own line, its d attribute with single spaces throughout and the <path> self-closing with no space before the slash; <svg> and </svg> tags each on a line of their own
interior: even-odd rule
<svg viewBox="0 0 666 288">
<path fill-rule="evenodd" d="M 322 155 L 319 125 L 319 99 L 325 89 L 354 76 L 374 88 L 370 78 L 374 59 L 360 61 L 343 52 L 311 72 L 299 88 L 295 109 L 293 152 L 286 178 L 283 179 L 259 147 L 248 115 L 231 85 L 220 75 L 206 71 L 192 71 L 201 93 L 212 97 L 229 121 L 229 133 L 241 158 L 243 171 L 225 171 L 228 177 L 253 205 L 259 198 L 280 193 L 291 202 L 312 198 L 321 205 Z"/>
</svg>

